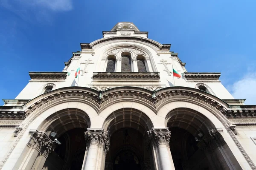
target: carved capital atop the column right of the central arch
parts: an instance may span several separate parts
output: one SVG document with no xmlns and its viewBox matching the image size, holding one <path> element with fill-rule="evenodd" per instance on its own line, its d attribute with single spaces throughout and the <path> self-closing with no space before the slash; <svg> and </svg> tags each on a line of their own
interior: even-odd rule
<svg viewBox="0 0 256 170">
<path fill-rule="evenodd" d="M 166 142 L 169 145 L 171 132 L 168 129 L 153 129 L 148 132 L 148 137 L 153 142 Z"/>
</svg>

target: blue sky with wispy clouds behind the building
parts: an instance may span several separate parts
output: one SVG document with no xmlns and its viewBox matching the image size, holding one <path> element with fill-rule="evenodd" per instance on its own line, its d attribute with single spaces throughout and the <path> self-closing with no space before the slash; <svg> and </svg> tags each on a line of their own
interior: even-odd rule
<svg viewBox="0 0 256 170">
<path fill-rule="evenodd" d="M 255 6 L 255 0 L 0 0 L 0 98 L 14 99 L 28 71 L 62 71 L 79 43 L 128 21 L 172 44 L 189 72 L 221 72 L 236 99 L 256 105 Z"/>
</svg>

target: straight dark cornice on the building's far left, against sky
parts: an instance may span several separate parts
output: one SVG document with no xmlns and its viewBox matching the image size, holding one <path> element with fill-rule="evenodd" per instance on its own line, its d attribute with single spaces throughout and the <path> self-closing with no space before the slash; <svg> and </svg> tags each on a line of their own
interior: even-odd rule
<svg viewBox="0 0 256 170">
<path fill-rule="evenodd" d="M 65 80 L 67 72 L 29 72 L 31 80 Z"/>
</svg>

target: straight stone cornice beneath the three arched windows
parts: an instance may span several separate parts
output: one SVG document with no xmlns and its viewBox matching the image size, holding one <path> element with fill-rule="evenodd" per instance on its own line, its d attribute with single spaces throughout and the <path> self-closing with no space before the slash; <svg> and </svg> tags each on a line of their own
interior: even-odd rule
<svg viewBox="0 0 256 170">
<path fill-rule="evenodd" d="M 158 82 L 160 81 L 160 74 L 154 72 L 93 72 L 93 81 Z"/>
</svg>

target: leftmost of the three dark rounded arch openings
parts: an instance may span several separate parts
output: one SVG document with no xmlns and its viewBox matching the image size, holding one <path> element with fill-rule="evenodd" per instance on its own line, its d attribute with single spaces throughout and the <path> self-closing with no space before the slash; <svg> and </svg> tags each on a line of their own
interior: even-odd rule
<svg viewBox="0 0 256 170">
<path fill-rule="evenodd" d="M 55 144 L 56 148 L 45 160 L 43 169 L 81 169 L 86 149 L 84 131 L 87 127 L 90 127 L 89 116 L 77 108 L 63 109 L 48 116 L 38 130 L 44 131 L 47 136 L 52 132 L 57 133 L 54 139 L 60 143 Z"/>
</svg>

